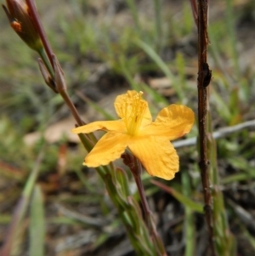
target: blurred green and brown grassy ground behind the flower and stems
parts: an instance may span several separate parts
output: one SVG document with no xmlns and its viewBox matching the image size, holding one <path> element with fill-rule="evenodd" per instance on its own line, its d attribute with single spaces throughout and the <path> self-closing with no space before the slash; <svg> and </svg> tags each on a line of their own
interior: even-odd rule
<svg viewBox="0 0 255 256">
<path fill-rule="evenodd" d="M 38 0 L 37 9 L 85 122 L 114 118 L 116 95 L 128 88 L 144 91 L 154 115 L 170 103 L 196 111 L 197 32 L 189 1 Z M 255 119 L 255 3 L 211 1 L 209 11 L 212 126 L 220 131 Z M 0 28 L 1 244 L 38 171 L 13 255 L 133 255 L 102 180 L 82 168 L 85 152 L 70 133 L 75 122 L 44 85 L 37 54 L 3 12 Z M 196 135 L 194 127 L 186 139 Z M 254 143 L 254 123 L 217 140 L 218 189 L 241 256 L 255 253 Z M 195 144 L 177 150 L 176 179 L 153 178 L 172 190 L 151 184 L 146 174 L 144 186 L 167 252 L 206 255 L 198 153 Z M 132 180 L 130 187 L 136 194 Z"/>
</svg>

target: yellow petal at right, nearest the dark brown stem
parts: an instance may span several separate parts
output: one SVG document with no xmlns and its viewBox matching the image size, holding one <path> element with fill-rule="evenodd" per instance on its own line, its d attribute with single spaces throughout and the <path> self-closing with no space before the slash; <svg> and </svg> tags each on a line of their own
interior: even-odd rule
<svg viewBox="0 0 255 256">
<path fill-rule="evenodd" d="M 169 105 L 159 112 L 155 122 L 144 128 L 142 134 L 177 139 L 190 132 L 194 120 L 194 112 L 189 107 Z"/>
</svg>

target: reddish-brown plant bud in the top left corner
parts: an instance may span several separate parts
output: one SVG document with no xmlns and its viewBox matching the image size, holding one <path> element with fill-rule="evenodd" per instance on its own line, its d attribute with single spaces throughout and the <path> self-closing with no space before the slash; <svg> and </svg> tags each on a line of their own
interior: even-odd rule
<svg viewBox="0 0 255 256">
<path fill-rule="evenodd" d="M 6 0 L 6 3 L 8 8 L 3 5 L 3 9 L 7 14 L 10 26 L 30 48 L 36 51 L 41 50 L 42 41 L 26 2 Z"/>
</svg>

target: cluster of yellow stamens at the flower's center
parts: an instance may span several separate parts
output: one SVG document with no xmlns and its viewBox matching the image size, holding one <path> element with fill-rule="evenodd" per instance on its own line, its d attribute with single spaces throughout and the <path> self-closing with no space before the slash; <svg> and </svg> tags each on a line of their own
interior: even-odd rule
<svg viewBox="0 0 255 256">
<path fill-rule="evenodd" d="M 123 121 L 127 127 L 127 134 L 132 136 L 139 134 L 142 121 L 144 118 L 144 111 L 147 108 L 147 102 L 142 100 L 143 92 L 136 94 L 126 94 L 125 104 L 123 105 Z"/>
</svg>

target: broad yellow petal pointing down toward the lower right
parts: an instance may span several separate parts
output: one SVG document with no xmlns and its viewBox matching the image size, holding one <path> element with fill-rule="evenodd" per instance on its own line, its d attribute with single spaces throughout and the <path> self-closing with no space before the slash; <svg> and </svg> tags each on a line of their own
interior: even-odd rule
<svg viewBox="0 0 255 256">
<path fill-rule="evenodd" d="M 173 179 L 178 172 L 178 155 L 173 145 L 166 139 L 156 137 L 132 139 L 128 148 L 152 176 Z"/>
</svg>

